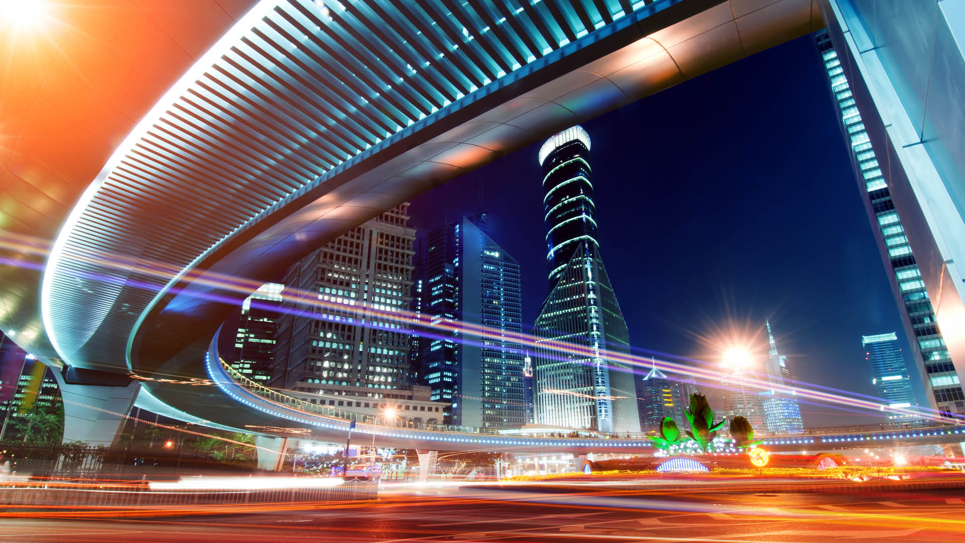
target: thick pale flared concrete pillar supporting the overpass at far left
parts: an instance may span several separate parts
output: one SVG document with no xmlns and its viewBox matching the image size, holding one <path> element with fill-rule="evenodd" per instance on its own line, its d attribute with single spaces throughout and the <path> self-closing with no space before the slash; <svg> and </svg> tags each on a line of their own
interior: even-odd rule
<svg viewBox="0 0 965 543">
<path fill-rule="evenodd" d="M 64 443 L 114 443 L 141 384 L 126 379 L 124 386 L 71 383 L 70 374 L 65 378 L 59 370 L 52 373 L 64 400 Z"/>
</svg>

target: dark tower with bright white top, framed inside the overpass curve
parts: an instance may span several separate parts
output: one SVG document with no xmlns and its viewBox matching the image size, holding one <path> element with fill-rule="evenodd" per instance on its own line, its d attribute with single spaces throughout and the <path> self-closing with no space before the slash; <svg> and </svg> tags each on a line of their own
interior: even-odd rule
<svg viewBox="0 0 965 543">
<path fill-rule="evenodd" d="M 263 383 L 271 379 L 284 288 L 281 283 L 265 283 L 241 303 L 231 365 L 248 379 Z"/>
</svg>

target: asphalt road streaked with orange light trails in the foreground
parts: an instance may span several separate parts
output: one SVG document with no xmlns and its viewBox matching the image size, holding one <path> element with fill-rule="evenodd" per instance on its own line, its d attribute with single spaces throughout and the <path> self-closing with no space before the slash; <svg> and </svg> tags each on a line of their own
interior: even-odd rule
<svg viewBox="0 0 965 543">
<path fill-rule="evenodd" d="M 965 491 L 719 494 L 399 489 L 378 502 L 219 516 L 0 519 L 0 541 L 965 541 Z"/>
</svg>

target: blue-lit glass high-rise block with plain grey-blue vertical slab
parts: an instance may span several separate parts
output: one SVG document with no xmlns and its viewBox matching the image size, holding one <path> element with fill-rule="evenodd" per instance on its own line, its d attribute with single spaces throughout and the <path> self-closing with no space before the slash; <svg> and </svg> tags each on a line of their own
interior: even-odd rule
<svg viewBox="0 0 965 543">
<path fill-rule="evenodd" d="M 473 428 L 526 423 L 525 353 L 519 264 L 487 234 L 485 214 L 430 231 L 422 311 L 422 382 L 433 400 L 452 402 L 447 422 Z M 438 330 L 433 326 L 444 325 Z M 448 327 L 482 325 L 500 337 L 465 336 Z"/>
</svg>

